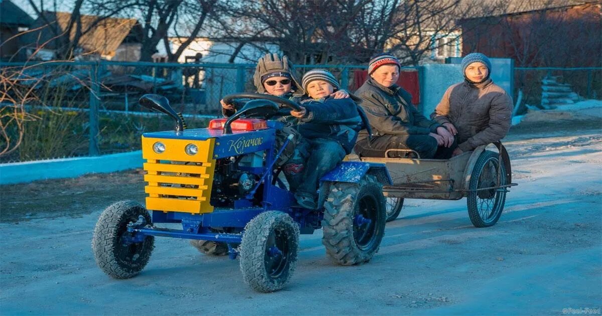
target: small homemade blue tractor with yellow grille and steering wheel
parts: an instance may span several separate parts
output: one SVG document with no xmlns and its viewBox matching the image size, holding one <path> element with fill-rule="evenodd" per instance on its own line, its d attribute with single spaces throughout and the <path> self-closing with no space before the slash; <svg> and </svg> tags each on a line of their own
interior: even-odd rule
<svg viewBox="0 0 602 316">
<path fill-rule="evenodd" d="M 142 135 L 146 208 L 122 201 L 102 212 L 92 240 L 101 270 L 133 277 L 149 261 L 155 236 L 187 238 L 209 255 L 240 256 L 250 287 L 277 291 L 295 269 L 299 234 L 319 228 L 326 253 L 338 264 L 370 261 L 385 230 L 382 183 L 391 179 L 384 164 L 340 163 L 321 178 L 318 209 L 301 208 L 276 163 L 293 139 L 276 118 L 299 105 L 256 93 L 224 100 L 240 105 L 234 116 L 187 129 L 163 96 L 140 99 L 143 107 L 172 117 L 176 128 Z M 158 223 L 181 223 L 182 229 Z"/>
</svg>

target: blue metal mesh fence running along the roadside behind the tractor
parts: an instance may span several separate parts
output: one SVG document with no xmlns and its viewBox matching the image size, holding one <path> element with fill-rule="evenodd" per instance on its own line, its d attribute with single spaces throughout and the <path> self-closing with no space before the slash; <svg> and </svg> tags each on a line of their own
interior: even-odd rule
<svg viewBox="0 0 602 316">
<path fill-rule="evenodd" d="M 173 128 L 171 119 L 149 113 L 137 101 L 144 93 L 166 96 L 188 126 L 206 126 L 221 115 L 219 100 L 226 94 L 255 91 L 255 64 L 178 64 L 79 61 L 0 65 L 0 89 L 5 97 L 0 117 L 7 137 L 0 137 L 0 163 L 70 156 L 101 155 L 140 149 L 146 131 Z M 342 87 L 356 87 L 358 65 L 297 65 L 299 74 L 325 68 Z M 582 98 L 601 98 L 601 69 L 515 69 L 515 95 L 523 103 L 539 104 L 545 76 L 561 76 Z M 422 80 L 422 78 L 420 78 Z M 422 85 L 421 85 L 422 86 Z M 11 117 L 25 117 L 18 126 Z"/>
</svg>

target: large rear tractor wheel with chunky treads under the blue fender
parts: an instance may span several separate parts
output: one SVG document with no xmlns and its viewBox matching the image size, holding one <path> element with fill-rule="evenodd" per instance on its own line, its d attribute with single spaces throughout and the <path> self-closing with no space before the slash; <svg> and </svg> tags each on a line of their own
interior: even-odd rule
<svg viewBox="0 0 602 316">
<path fill-rule="evenodd" d="M 322 244 L 342 265 L 370 261 L 385 234 L 382 185 L 371 175 L 359 183 L 332 182 L 324 202 Z"/>
</svg>

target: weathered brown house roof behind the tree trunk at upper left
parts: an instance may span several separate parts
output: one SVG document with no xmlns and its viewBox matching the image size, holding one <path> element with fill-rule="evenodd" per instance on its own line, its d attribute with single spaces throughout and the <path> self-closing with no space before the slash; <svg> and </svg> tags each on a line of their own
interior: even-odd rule
<svg viewBox="0 0 602 316">
<path fill-rule="evenodd" d="M 43 17 L 40 16 L 31 25 L 32 29 L 40 28 L 40 30 L 26 34 L 27 37 L 24 42 L 28 43 L 28 46 L 38 46 L 48 42 L 44 48 L 57 49 L 56 41 L 52 40 L 54 37 L 57 37 L 53 28 L 57 29 L 58 33 L 65 32 L 69 25 L 71 14 L 53 11 L 44 11 L 42 14 Z M 99 16 L 81 16 L 82 31 L 85 32 L 92 26 L 90 31 L 83 34 L 79 40 L 79 46 L 86 52 L 96 52 L 101 55 L 113 54 L 126 37 L 128 39 L 132 37 L 136 38 L 138 37 L 137 33 L 142 32 L 136 19 L 108 17 L 94 25 L 99 19 L 101 19 Z M 73 27 L 69 34 L 69 39 L 72 40 L 75 37 L 75 31 L 75 27 Z M 132 40 L 129 40 L 129 42 L 132 42 Z"/>
</svg>

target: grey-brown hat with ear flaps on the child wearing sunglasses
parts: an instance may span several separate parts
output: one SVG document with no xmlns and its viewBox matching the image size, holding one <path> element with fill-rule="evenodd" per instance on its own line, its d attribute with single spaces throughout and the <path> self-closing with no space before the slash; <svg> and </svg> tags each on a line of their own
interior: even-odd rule
<svg viewBox="0 0 602 316">
<path fill-rule="evenodd" d="M 300 81 L 297 79 L 293 64 L 286 56 L 282 56 L 281 60 L 278 54 L 265 54 L 264 57 L 259 58 L 257 61 L 257 67 L 255 68 L 255 74 L 253 75 L 253 83 L 255 84 L 258 93 L 265 93 L 265 87 L 263 86 L 263 82 L 261 82 L 261 78 L 272 72 L 286 72 L 290 74 L 291 79 L 293 79 L 293 84 L 296 86 L 293 95 L 302 96 L 305 94 L 305 90 L 303 90 L 302 85 L 299 84 Z"/>
</svg>

